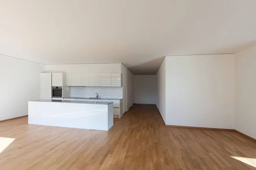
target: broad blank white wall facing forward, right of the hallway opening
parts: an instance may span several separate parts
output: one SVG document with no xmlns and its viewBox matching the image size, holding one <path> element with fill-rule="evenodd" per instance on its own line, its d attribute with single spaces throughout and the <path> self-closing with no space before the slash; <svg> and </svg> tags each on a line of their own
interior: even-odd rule
<svg viewBox="0 0 256 170">
<path fill-rule="evenodd" d="M 234 54 L 166 57 L 166 125 L 234 128 Z"/>
</svg>

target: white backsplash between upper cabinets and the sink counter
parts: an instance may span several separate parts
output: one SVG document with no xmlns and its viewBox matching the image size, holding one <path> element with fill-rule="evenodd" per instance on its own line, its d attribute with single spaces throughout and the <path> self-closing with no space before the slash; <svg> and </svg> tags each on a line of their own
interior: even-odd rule
<svg viewBox="0 0 256 170">
<path fill-rule="evenodd" d="M 71 87 L 71 97 L 122 98 L 122 87 Z"/>
</svg>

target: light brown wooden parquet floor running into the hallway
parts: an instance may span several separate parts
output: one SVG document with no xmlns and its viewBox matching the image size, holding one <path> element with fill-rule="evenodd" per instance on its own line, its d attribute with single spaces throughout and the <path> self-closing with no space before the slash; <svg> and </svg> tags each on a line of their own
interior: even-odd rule
<svg viewBox="0 0 256 170">
<path fill-rule="evenodd" d="M 0 142 L 15 139 L 0 153 L 0 170 L 256 170 L 256 142 L 233 131 L 165 127 L 154 105 L 134 105 L 108 132 L 27 123 L 0 123 Z"/>
</svg>

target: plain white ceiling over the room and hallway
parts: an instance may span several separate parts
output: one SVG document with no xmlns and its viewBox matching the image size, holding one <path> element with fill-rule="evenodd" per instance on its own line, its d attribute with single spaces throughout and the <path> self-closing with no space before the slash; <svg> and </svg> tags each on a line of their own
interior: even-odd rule
<svg viewBox="0 0 256 170">
<path fill-rule="evenodd" d="M 0 54 L 44 64 L 122 62 L 256 44 L 256 0 L 0 0 Z"/>
</svg>

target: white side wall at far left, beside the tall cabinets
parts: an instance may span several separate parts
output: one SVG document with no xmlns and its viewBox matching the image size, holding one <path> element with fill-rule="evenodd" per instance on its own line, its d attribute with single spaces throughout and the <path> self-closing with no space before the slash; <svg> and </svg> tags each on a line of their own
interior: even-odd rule
<svg viewBox="0 0 256 170">
<path fill-rule="evenodd" d="M 28 114 L 28 101 L 40 99 L 44 65 L 0 55 L 0 120 Z"/>
</svg>

